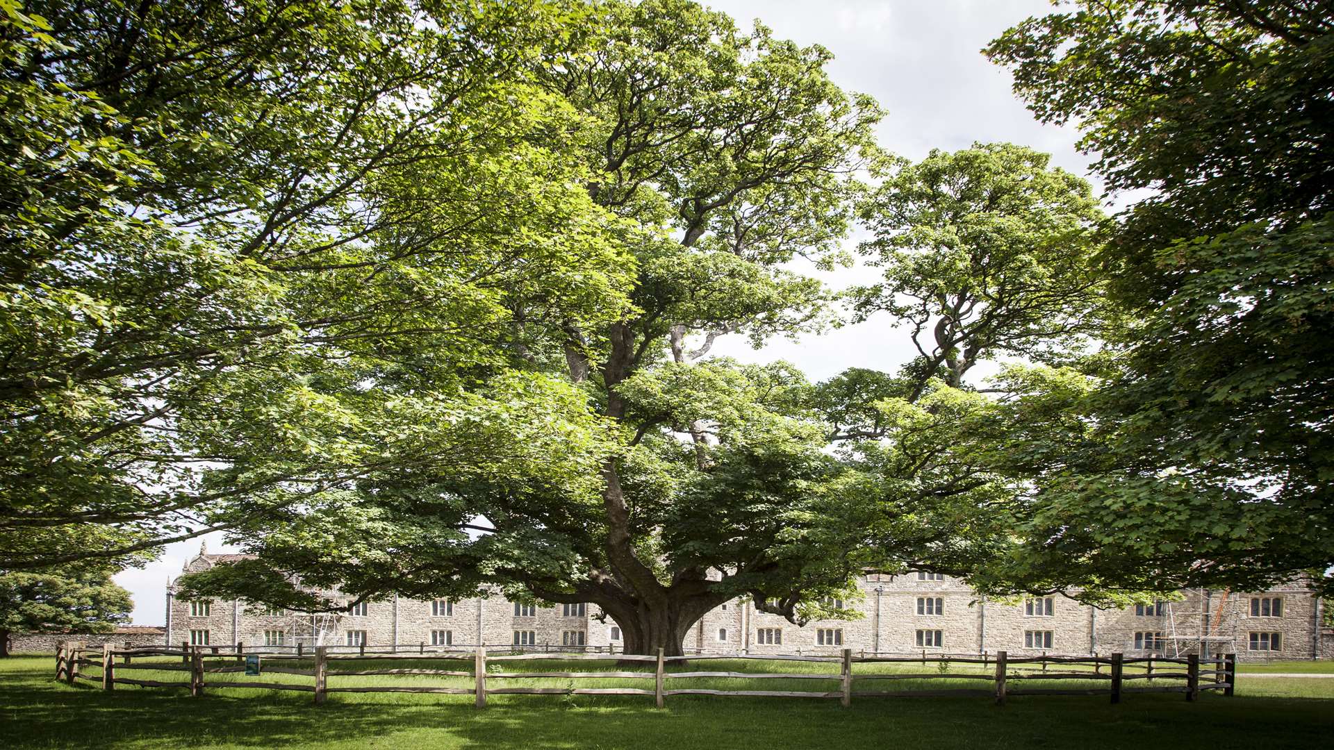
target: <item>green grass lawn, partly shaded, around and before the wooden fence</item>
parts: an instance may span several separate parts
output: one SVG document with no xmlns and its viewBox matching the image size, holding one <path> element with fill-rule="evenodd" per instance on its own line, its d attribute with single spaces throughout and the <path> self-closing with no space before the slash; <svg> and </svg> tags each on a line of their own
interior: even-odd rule
<svg viewBox="0 0 1334 750">
<path fill-rule="evenodd" d="M 143 659 L 139 659 L 143 661 Z M 179 659 L 163 658 L 167 663 Z M 275 662 L 276 663 L 276 662 Z M 334 662 L 334 669 L 372 665 L 440 669 L 439 662 Z M 492 662 L 496 670 L 500 662 Z M 307 663 L 308 666 L 308 663 Z M 647 666 L 647 665 L 646 665 Z M 470 669 L 459 662 L 458 669 Z M 611 662 L 506 662 L 506 671 L 616 667 Z M 676 671 L 836 673 L 836 665 L 802 662 L 700 661 Z M 96 667 L 84 667 L 97 674 Z M 1238 679 L 1237 697 L 1206 693 L 1195 703 L 1179 694 L 1126 695 L 1113 706 L 1106 697 L 1014 697 L 1007 706 L 988 698 L 719 698 L 674 695 L 658 710 L 642 697 L 491 695 L 476 709 L 471 695 L 342 693 L 315 706 L 309 693 L 215 689 L 203 698 L 184 690 L 116 686 L 107 693 L 91 682 L 67 686 L 52 679 L 51 655 L 0 661 L 0 747 L 543 747 L 671 750 L 755 747 L 1133 747 L 1171 750 L 1246 747 L 1322 747 L 1334 737 L 1334 681 Z M 856 674 L 923 671 L 920 665 L 856 665 Z M 930 669 L 927 671 L 931 671 Z M 123 671 L 123 677 L 185 681 L 180 671 Z M 205 681 L 280 681 L 309 683 L 308 677 L 209 674 Z M 491 686 L 567 686 L 568 679 L 500 681 Z M 471 678 L 331 677 L 329 686 L 458 685 Z M 1142 683 L 1142 681 L 1137 681 Z M 580 681 L 580 686 L 588 685 Z M 603 687 L 646 687 L 652 681 L 604 679 Z M 990 689 L 986 681 L 952 686 Z M 1069 685 L 1069 683 L 1066 683 Z M 1130 683 L 1127 683 L 1129 686 Z M 732 690 L 836 690 L 836 681 L 674 679 L 671 687 Z M 1017 686 L 1017 685 L 1014 685 Z M 1059 686 L 1055 681 L 1026 686 Z M 940 681 L 858 679 L 855 690 L 931 689 Z"/>
</svg>

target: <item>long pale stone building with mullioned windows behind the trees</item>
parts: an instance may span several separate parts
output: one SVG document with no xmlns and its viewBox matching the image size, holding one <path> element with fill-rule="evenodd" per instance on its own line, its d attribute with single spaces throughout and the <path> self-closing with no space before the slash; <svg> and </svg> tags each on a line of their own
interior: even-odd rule
<svg viewBox="0 0 1334 750">
<path fill-rule="evenodd" d="M 236 555 L 203 551 L 184 575 Z M 839 609 L 860 617 L 798 627 L 735 601 L 704 615 L 687 653 L 880 654 L 1237 653 L 1241 659 L 1322 658 L 1321 602 L 1306 581 L 1262 593 L 1182 591 L 1179 601 L 1105 610 L 1066 597 L 988 601 L 940 574 L 871 574 Z M 339 615 L 263 611 L 244 601 L 188 602 L 167 591 L 168 643 L 618 649 L 620 630 L 594 605 L 531 606 L 495 594 L 459 601 L 390 598 Z"/>
</svg>

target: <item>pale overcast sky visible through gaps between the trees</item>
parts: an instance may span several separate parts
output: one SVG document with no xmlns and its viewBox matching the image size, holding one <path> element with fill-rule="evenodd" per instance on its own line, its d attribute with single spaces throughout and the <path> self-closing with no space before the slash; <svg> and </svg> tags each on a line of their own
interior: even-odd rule
<svg viewBox="0 0 1334 750">
<path fill-rule="evenodd" d="M 715 0 L 711 5 L 750 28 L 755 19 L 774 33 L 834 52 L 830 75 L 847 91 L 870 93 L 888 116 L 879 125 L 880 145 L 920 159 L 931 148 L 955 151 L 975 141 L 1009 141 L 1053 155 L 1053 163 L 1085 175 L 1090 159 L 1078 153 L 1073 128 L 1034 121 L 1010 92 L 1010 76 L 979 52 L 1006 28 L 1050 9 L 1047 0 Z M 848 243 L 856 242 L 856 236 Z M 874 272 L 851 268 L 823 278 L 834 287 L 867 283 Z M 811 379 L 822 380 L 847 367 L 891 371 L 910 354 L 910 344 L 890 320 L 778 340 L 752 350 L 734 336 L 714 354 L 746 362 L 786 359 Z M 136 625 L 163 625 L 165 586 L 200 542 L 165 548 L 163 556 L 116 581 L 135 597 Z M 223 551 L 220 535 L 208 538 Z"/>
</svg>

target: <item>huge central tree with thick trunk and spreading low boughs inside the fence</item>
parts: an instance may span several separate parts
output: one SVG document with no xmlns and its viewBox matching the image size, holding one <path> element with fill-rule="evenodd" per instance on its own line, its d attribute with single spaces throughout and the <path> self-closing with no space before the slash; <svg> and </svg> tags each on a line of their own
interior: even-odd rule
<svg viewBox="0 0 1334 750">
<path fill-rule="evenodd" d="M 490 581 L 592 602 L 627 651 L 679 654 L 687 629 L 728 599 L 804 619 L 847 586 L 858 518 L 806 383 L 706 355 L 720 335 L 758 342 L 818 323 L 824 292 L 783 264 L 836 248 L 879 111 L 830 81 L 822 48 L 743 33 L 679 0 L 602 11 L 582 53 L 540 77 L 587 119 L 572 136 L 584 188 L 630 227 L 632 307 L 606 324 L 524 316 L 518 331 L 531 362 L 559 370 L 608 426 L 595 482 L 407 467 L 293 526 L 256 527 L 247 547 L 261 560 L 219 566 L 200 590 L 265 581 L 271 598 L 331 606 L 289 590 L 288 575 L 351 597 Z M 548 331 L 559 348 L 527 346 Z M 487 531 L 459 531 L 472 516 Z"/>
</svg>

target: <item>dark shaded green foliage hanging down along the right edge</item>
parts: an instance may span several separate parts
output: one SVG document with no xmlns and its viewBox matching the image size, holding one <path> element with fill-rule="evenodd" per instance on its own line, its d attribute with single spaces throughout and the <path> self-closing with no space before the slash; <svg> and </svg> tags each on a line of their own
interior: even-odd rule
<svg viewBox="0 0 1334 750">
<path fill-rule="evenodd" d="M 1153 190 L 1102 256 L 1130 323 L 1115 371 L 1059 396 L 1083 419 L 1042 471 L 1037 567 L 1262 587 L 1334 565 L 1327 4 L 1081 1 L 987 53 L 1113 188 Z"/>
</svg>

